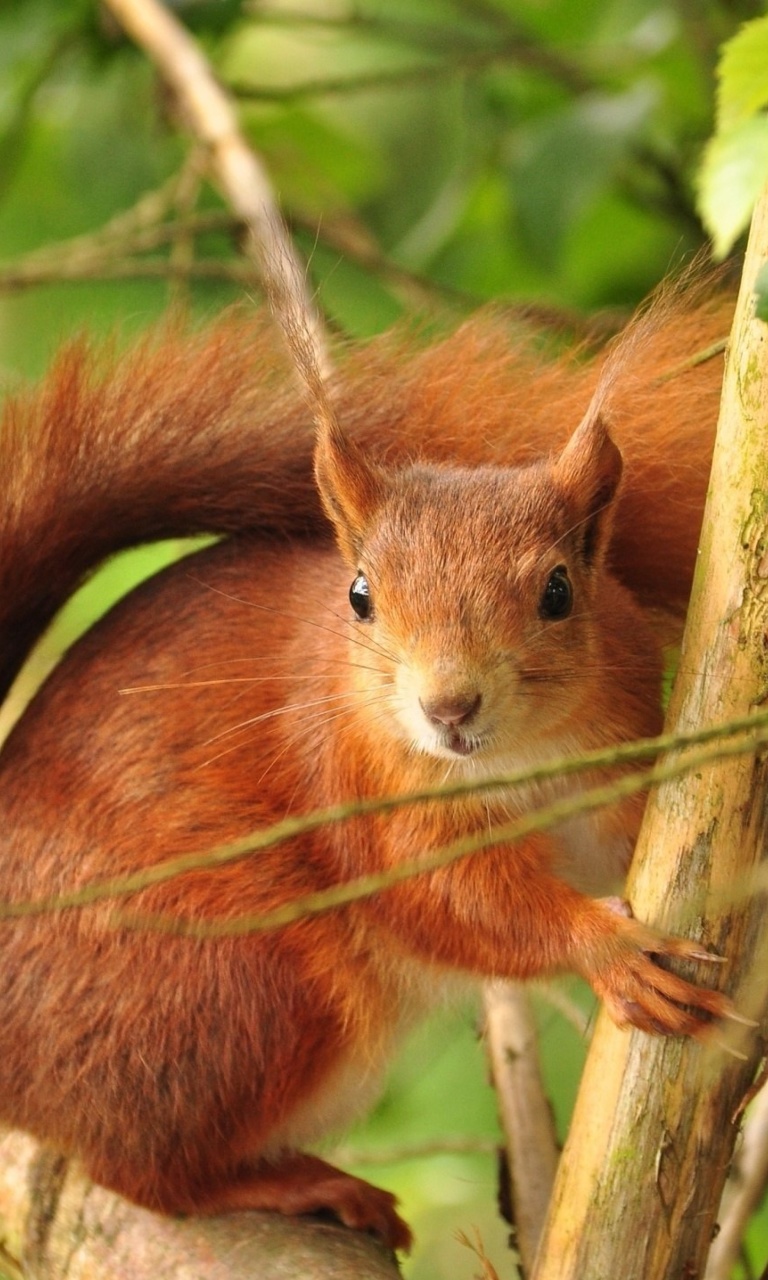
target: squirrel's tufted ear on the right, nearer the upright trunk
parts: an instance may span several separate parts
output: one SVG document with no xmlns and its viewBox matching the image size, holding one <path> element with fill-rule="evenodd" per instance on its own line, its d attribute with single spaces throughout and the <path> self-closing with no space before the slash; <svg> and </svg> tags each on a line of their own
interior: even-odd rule
<svg viewBox="0 0 768 1280">
<path fill-rule="evenodd" d="M 621 472 L 621 453 L 600 412 L 588 412 L 554 463 L 557 483 L 576 516 L 575 531 L 581 536 L 588 563 L 605 545 Z"/>
</svg>

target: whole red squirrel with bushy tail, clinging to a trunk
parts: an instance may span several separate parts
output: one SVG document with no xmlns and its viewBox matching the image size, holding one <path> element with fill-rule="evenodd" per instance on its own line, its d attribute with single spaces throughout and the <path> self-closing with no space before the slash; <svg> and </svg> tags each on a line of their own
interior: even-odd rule
<svg viewBox="0 0 768 1280">
<path fill-rule="evenodd" d="M 678 366 L 726 330 L 719 305 L 672 310 L 607 390 L 599 360 L 549 361 L 489 319 L 411 355 L 384 339 L 338 376 L 316 481 L 264 324 L 119 357 L 70 346 L 3 421 L 3 690 L 105 556 L 228 536 L 120 602 L 10 733 L 0 897 L 658 731 L 650 620 L 690 586 L 721 376 Z M 356 818 L 128 904 L 0 920 L 0 1121 L 154 1210 L 332 1211 L 407 1248 L 392 1196 L 303 1148 L 375 1097 L 452 974 L 575 970 L 620 1023 L 666 1034 L 727 1011 L 654 963 L 701 946 L 590 896 L 625 870 L 641 800 L 275 932 L 196 940 L 113 913 L 270 911 L 581 785 Z"/>
</svg>

